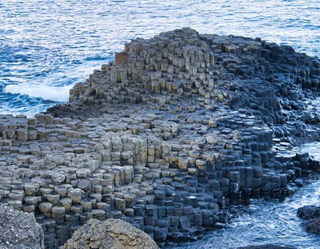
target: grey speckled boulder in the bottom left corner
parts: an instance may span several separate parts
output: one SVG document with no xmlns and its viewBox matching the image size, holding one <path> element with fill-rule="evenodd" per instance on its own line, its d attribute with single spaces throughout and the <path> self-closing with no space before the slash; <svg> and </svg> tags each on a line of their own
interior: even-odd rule
<svg viewBox="0 0 320 249">
<path fill-rule="evenodd" d="M 0 205 L 0 248 L 44 248 L 43 231 L 33 213 Z"/>
</svg>

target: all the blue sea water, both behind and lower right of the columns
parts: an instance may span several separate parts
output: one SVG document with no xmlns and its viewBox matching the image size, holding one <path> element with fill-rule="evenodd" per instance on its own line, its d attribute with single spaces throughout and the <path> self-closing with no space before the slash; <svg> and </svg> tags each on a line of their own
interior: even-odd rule
<svg viewBox="0 0 320 249">
<path fill-rule="evenodd" d="M 69 89 L 124 43 L 186 26 L 320 55 L 320 0 L 0 0 L 0 114 L 31 117 L 66 102 Z M 319 143 L 302 149 L 320 159 Z M 228 229 L 180 248 L 320 248 L 295 214 L 308 203 L 320 205 L 319 181 L 282 202 L 252 201 Z"/>
</svg>

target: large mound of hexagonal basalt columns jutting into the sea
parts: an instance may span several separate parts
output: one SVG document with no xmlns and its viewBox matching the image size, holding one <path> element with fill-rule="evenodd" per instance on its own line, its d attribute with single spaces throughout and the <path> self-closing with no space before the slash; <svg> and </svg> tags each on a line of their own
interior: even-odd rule
<svg viewBox="0 0 320 249">
<path fill-rule="evenodd" d="M 230 201 L 285 196 L 319 161 L 320 61 L 190 28 L 137 38 L 33 118 L 0 115 L 1 203 L 35 213 L 46 248 L 90 218 L 158 245 L 219 226 Z"/>
</svg>

